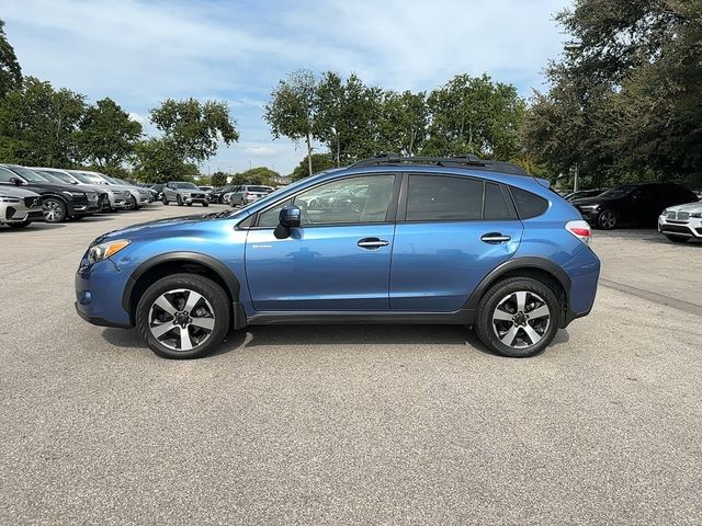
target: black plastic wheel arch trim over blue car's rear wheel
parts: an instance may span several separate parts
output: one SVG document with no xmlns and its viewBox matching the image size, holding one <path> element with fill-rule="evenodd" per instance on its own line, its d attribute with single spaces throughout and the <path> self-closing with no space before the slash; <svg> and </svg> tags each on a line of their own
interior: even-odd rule
<svg viewBox="0 0 702 526">
<path fill-rule="evenodd" d="M 517 258 L 495 267 L 473 290 L 464 308 L 476 310 L 480 299 L 495 284 L 509 277 L 531 277 L 551 287 L 562 299 L 562 315 L 570 304 L 570 277 L 554 262 L 543 258 Z M 563 316 L 562 316 L 562 319 Z"/>
</svg>

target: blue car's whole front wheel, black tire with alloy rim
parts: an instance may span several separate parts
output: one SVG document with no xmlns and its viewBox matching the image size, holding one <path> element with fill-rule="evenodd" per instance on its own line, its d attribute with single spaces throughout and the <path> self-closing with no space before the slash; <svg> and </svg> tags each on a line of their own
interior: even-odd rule
<svg viewBox="0 0 702 526">
<path fill-rule="evenodd" d="M 199 299 L 194 306 L 188 306 L 193 293 Z M 192 312 L 199 316 L 192 317 Z M 182 325 L 176 323 L 179 319 Z M 165 358 L 200 358 L 210 354 L 229 332 L 229 319 L 226 293 L 212 279 L 196 274 L 173 274 L 159 279 L 144 293 L 136 307 L 136 325 L 141 338 L 151 351 Z M 159 331 L 161 327 L 166 332 Z M 168 330 L 168 327 L 172 329 Z"/>
</svg>

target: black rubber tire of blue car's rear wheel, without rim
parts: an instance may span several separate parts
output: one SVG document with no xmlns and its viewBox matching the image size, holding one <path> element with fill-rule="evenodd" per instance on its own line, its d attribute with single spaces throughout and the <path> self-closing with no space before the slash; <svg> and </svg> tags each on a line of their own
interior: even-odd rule
<svg viewBox="0 0 702 526">
<path fill-rule="evenodd" d="M 551 310 L 551 320 L 541 341 L 526 348 L 508 347 L 499 341 L 492 330 L 492 312 L 498 302 L 510 293 L 526 290 L 541 296 Z M 513 277 L 497 283 L 488 289 L 478 304 L 474 323 L 475 332 L 483 344 L 491 352 L 511 358 L 526 358 L 542 353 L 553 341 L 561 327 L 561 302 L 554 291 L 542 282 L 529 277 Z"/>
</svg>

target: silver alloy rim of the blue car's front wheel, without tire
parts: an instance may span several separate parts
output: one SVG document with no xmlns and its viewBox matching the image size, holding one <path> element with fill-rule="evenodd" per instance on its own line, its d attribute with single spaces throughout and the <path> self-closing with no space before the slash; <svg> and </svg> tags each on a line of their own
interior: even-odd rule
<svg viewBox="0 0 702 526">
<path fill-rule="evenodd" d="M 186 288 L 169 290 L 151 304 L 148 327 L 161 345 L 172 351 L 192 351 L 212 335 L 214 309 L 200 293 Z"/>
</svg>

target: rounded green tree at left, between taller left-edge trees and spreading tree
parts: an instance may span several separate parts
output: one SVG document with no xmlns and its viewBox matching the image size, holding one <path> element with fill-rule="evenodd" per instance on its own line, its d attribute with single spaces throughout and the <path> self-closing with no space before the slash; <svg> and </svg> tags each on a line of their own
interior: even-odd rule
<svg viewBox="0 0 702 526">
<path fill-rule="evenodd" d="M 141 135 L 141 125 L 109 98 L 89 106 L 79 126 L 80 157 L 103 169 L 125 162 Z"/>
</svg>

